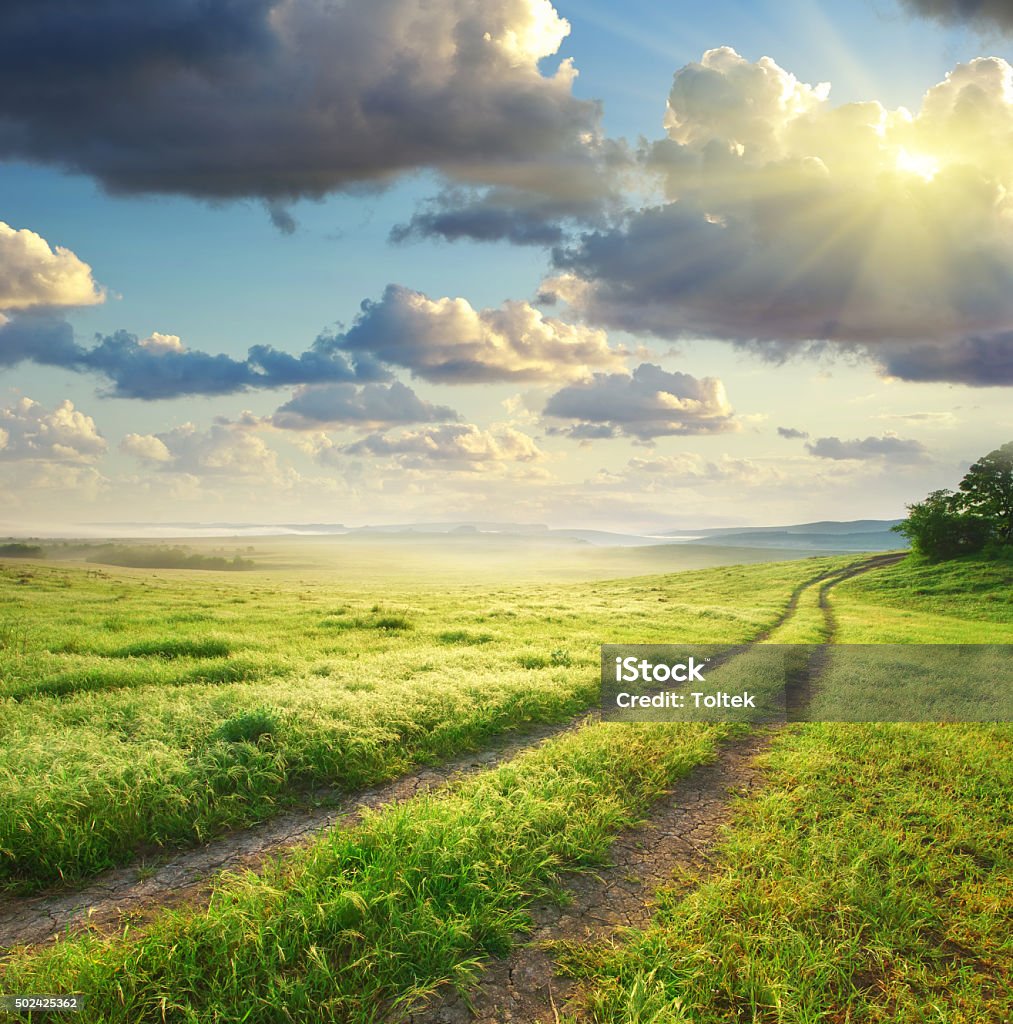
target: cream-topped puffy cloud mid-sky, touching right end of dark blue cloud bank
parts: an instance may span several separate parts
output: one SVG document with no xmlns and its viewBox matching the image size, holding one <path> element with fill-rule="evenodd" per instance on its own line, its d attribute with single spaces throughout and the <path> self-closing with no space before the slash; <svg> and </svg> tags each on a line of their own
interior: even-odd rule
<svg viewBox="0 0 1013 1024">
<path fill-rule="evenodd" d="M 399 285 L 364 302 L 338 344 L 446 384 L 578 380 L 590 367 L 622 366 L 626 354 L 608 347 L 604 331 L 545 316 L 526 302 L 475 309 Z"/>
</svg>

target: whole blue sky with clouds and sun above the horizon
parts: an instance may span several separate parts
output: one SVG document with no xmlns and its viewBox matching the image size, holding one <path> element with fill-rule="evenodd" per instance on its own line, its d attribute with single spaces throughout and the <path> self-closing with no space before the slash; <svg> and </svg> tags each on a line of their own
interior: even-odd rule
<svg viewBox="0 0 1013 1024">
<path fill-rule="evenodd" d="M 894 518 L 1013 438 L 1006 0 L 9 0 L 0 532 Z"/>
</svg>

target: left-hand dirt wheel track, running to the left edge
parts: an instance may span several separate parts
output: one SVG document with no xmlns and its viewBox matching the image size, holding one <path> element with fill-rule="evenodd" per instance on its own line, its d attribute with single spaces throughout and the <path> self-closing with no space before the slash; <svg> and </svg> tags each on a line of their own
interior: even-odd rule
<svg viewBox="0 0 1013 1024">
<path fill-rule="evenodd" d="M 874 567 L 873 563 L 881 563 L 882 557 L 863 560 L 844 571 L 864 571 L 867 565 Z M 898 556 L 890 557 L 896 560 Z M 751 642 L 768 639 L 795 614 L 799 600 L 809 588 L 825 582 L 825 586 L 830 586 L 838 578 L 843 579 L 841 572 L 841 569 L 828 570 L 799 584 L 792 591 L 784 611 Z M 207 899 L 214 878 L 223 870 L 255 869 L 268 857 L 306 843 L 328 828 L 353 825 L 366 809 L 411 800 L 484 771 L 597 717 L 596 710 L 590 711 L 561 724 L 530 729 L 513 738 L 501 737 L 500 742 L 478 753 L 421 767 L 393 781 L 349 795 L 336 805 L 290 811 L 205 846 L 159 858 L 151 865 L 133 863 L 113 868 L 72 891 L 0 896 L 0 958 L 5 950 L 16 946 L 52 941 L 85 928 L 105 933 L 118 931 L 127 923 L 135 928 L 164 907 L 198 904 Z M 734 760 L 732 748 L 727 750 Z M 706 766 L 701 770 L 706 771 Z M 728 777 L 719 774 L 722 778 Z M 698 802 L 711 804 L 717 798 L 716 791 L 706 786 L 694 792 L 699 792 L 699 796 L 692 799 Z M 723 799 L 726 801 L 726 795 Z"/>
</svg>

